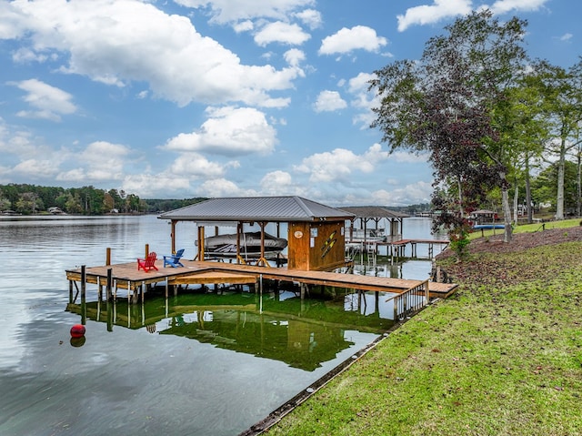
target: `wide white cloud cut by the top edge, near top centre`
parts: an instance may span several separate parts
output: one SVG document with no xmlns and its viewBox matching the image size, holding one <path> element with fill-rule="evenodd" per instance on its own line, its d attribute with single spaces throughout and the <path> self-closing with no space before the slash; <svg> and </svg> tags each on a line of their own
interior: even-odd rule
<svg viewBox="0 0 582 436">
<path fill-rule="evenodd" d="M 315 0 L 175 0 L 178 5 L 192 8 L 207 8 L 216 23 L 236 23 L 241 20 L 270 18 L 285 19 L 297 9 L 315 5 Z"/>
</svg>

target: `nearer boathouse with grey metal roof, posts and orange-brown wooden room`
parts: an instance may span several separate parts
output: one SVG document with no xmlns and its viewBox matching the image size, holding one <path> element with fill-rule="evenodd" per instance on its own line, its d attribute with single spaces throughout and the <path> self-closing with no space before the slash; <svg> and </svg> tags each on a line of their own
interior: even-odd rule
<svg viewBox="0 0 582 436">
<path fill-rule="evenodd" d="M 185 208 L 161 214 L 158 218 L 170 220 L 172 250 L 176 251 L 176 224 L 180 221 L 196 223 L 197 260 L 206 259 L 206 227 L 236 228 L 236 263 L 246 263 L 242 256 L 241 240 L 245 226 L 258 225 L 261 250 L 257 265 L 268 265 L 266 259 L 266 225 L 275 223 L 277 237 L 279 224 L 286 223 L 287 257 L 289 269 L 332 270 L 345 265 L 345 224 L 355 215 L 346 210 L 330 208 L 301 197 L 210 198 Z M 285 237 L 285 236 L 284 236 Z"/>
</svg>

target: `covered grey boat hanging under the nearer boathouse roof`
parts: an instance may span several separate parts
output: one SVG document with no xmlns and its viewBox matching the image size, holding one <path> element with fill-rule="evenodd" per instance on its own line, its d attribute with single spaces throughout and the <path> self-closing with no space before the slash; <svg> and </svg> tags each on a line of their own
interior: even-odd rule
<svg viewBox="0 0 582 436">
<path fill-rule="evenodd" d="M 265 233 L 265 254 L 276 255 L 287 246 L 285 238 L 276 238 Z M 236 233 L 217 235 L 204 239 L 205 251 L 220 256 L 236 256 Z M 240 254 L 260 256 L 261 232 L 245 232 L 240 235 Z"/>
</svg>

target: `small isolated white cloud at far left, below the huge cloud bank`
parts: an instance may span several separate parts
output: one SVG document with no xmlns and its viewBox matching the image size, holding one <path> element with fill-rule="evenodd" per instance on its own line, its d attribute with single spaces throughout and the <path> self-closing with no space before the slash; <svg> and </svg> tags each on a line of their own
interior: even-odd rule
<svg viewBox="0 0 582 436">
<path fill-rule="evenodd" d="M 61 115 L 73 114 L 76 111 L 76 106 L 72 103 L 73 96 L 55 86 L 36 79 L 23 80 L 13 85 L 27 93 L 23 99 L 35 108 L 18 112 L 19 117 L 60 121 Z"/>
</svg>

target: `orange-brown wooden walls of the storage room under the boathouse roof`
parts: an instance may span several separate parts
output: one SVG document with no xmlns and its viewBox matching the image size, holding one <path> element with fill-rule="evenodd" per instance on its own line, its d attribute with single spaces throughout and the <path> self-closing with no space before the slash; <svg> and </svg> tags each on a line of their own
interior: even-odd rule
<svg viewBox="0 0 582 436">
<path fill-rule="evenodd" d="M 345 263 L 344 221 L 291 222 L 287 239 L 289 269 L 328 270 Z"/>
</svg>

